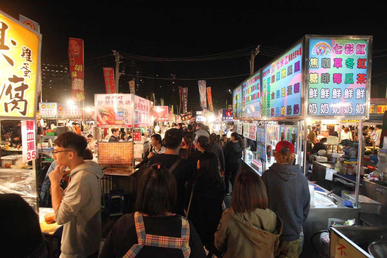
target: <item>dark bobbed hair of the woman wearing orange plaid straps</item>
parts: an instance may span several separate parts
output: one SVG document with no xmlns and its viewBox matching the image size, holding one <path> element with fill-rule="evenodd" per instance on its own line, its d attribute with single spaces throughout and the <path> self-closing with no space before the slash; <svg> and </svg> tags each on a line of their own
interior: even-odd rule
<svg viewBox="0 0 387 258">
<path fill-rule="evenodd" d="M 141 177 L 135 210 L 149 216 L 165 216 L 175 204 L 175 177 L 160 163 L 152 165 Z"/>
</svg>

